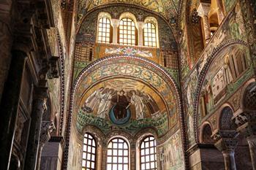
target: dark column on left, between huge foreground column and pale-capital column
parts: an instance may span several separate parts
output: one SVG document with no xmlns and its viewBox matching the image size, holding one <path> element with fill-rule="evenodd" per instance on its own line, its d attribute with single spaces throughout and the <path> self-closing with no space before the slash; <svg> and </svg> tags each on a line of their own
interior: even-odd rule
<svg viewBox="0 0 256 170">
<path fill-rule="evenodd" d="M 37 156 L 39 152 L 39 137 L 41 132 L 42 114 L 47 109 L 47 91 L 48 88 L 34 89 L 29 141 L 26 150 L 26 170 L 35 170 L 37 167 Z"/>
</svg>

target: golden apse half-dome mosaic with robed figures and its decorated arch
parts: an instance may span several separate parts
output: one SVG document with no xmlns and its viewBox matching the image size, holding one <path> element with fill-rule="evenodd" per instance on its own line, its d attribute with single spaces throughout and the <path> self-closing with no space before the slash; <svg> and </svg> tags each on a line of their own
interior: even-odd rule
<svg viewBox="0 0 256 170">
<path fill-rule="evenodd" d="M 160 66 L 135 56 L 101 58 L 80 72 L 73 91 L 76 128 L 96 125 L 104 134 L 135 135 L 154 128 L 165 135 L 178 123 L 176 82 Z"/>
</svg>

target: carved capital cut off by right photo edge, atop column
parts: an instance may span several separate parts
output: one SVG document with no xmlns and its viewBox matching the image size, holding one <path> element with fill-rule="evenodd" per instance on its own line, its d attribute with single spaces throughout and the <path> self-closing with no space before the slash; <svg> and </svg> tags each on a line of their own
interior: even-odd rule
<svg viewBox="0 0 256 170">
<path fill-rule="evenodd" d="M 244 136 L 256 135 L 256 111 L 244 111 L 233 117 L 237 131 Z"/>
</svg>

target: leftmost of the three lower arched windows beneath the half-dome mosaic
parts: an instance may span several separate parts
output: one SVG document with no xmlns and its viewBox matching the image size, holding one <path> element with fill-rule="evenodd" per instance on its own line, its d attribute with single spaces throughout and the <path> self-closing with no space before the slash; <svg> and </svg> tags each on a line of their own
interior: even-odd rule
<svg viewBox="0 0 256 170">
<path fill-rule="evenodd" d="M 96 169 L 96 141 L 91 134 L 86 133 L 83 138 L 82 170 Z"/>
</svg>

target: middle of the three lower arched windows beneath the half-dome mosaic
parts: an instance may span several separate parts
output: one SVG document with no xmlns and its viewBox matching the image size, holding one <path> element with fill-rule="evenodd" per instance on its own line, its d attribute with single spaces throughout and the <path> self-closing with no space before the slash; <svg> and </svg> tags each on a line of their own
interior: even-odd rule
<svg viewBox="0 0 256 170">
<path fill-rule="evenodd" d="M 124 139 L 115 138 L 108 143 L 107 169 L 129 169 L 129 147 Z"/>
</svg>

